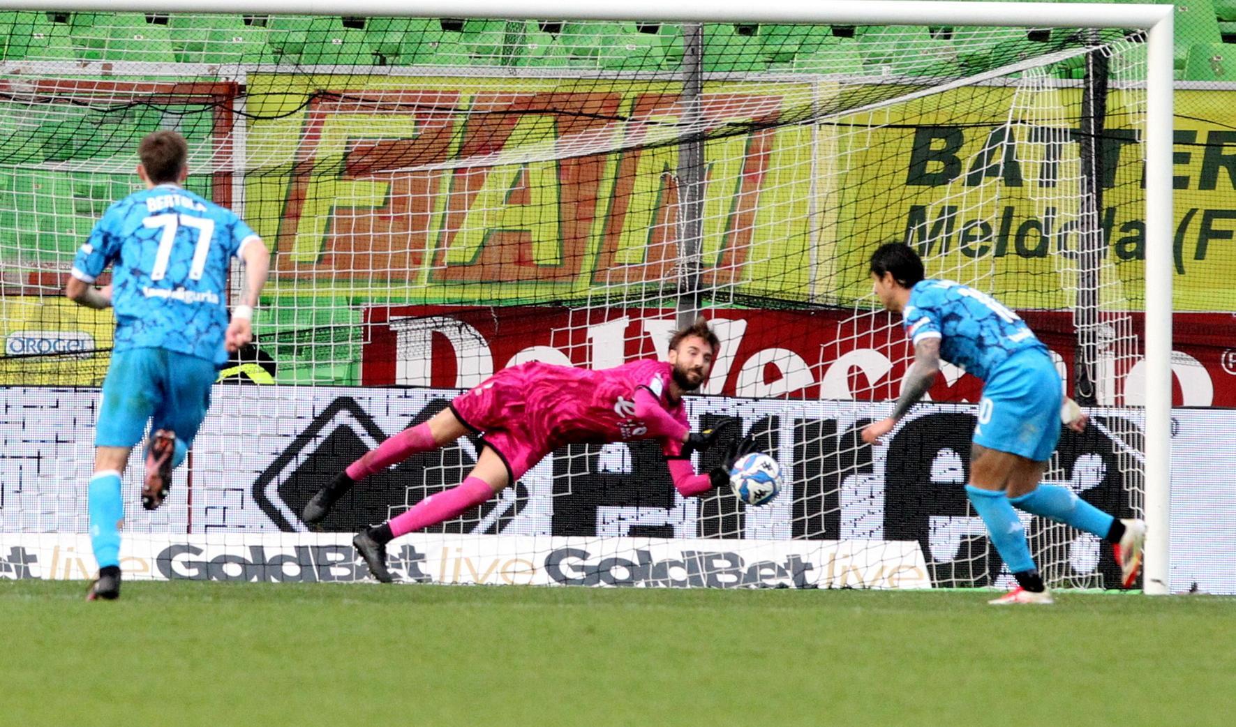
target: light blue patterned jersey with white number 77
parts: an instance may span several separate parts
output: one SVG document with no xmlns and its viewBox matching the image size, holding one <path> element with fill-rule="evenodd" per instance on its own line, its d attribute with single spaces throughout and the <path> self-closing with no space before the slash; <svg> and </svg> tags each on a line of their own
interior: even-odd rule
<svg viewBox="0 0 1236 727">
<path fill-rule="evenodd" d="M 231 210 L 174 184 L 112 204 L 73 261 L 93 283 L 112 266 L 115 350 L 154 347 L 227 361 L 227 273 L 258 236 Z"/>
</svg>

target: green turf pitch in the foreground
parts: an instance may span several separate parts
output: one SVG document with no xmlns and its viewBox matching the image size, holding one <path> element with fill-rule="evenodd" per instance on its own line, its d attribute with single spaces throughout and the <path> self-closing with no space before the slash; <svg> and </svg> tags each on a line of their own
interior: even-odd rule
<svg viewBox="0 0 1236 727">
<path fill-rule="evenodd" d="M 2 725 L 1220 725 L 1236 598 L 0 581 Z"/>
</svg>

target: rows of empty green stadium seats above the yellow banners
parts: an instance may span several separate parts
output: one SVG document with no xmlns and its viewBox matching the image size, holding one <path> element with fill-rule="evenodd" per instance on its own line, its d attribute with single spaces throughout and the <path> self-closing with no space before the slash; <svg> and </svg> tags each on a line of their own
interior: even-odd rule
<svg viewBox="0 0 1236 727">
<path fill-rule="evenodd" d="M 1177 7 L 1178 77 L 1213 79 L 1236 0 Z M 1231 32 L 1225 32 L 1231 31 Z M 1056 36 L 1022 30 L 708 23 L 703 69 L 943 75 L 1038 53 Z M 1196 48 L 1196 49 L 1195 49 Z M 6 61 L 136 61 L 303 66 L 478 66 L 672 70 L 676 25 L 503 20 L 346 19 L 130 12 L 0 12 Z M 1193 61 L 1190 61 L 1190 57 Z M 1205 61 L 1203 61 L 1205 59 Z M 1077 64 L 1075 64 L 1077 66 Z M 1064 66 L 1063 75 L 1077 67 Z"/>
</svg>

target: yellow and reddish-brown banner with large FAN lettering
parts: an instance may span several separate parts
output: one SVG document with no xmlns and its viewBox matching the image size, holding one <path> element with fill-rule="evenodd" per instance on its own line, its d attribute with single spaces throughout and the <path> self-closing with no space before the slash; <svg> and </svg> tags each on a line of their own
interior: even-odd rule
<svg viewBox="0 0 1236 727">
<path fill-rule="evenodd" d="M 251 74 L 245 216 L 274 291 L 543 302 L 664 279 L 677 258 L 680 84 Z M 765 127 L 807 83 L 706 83 L 709 129 Z M 707 142 L 705 284 L 807 294 L 812 130 Z M 414 171 L 408 171 L 414 169 Z M 311 289 L 297 281 L 314 279 Z"/>
</svg>

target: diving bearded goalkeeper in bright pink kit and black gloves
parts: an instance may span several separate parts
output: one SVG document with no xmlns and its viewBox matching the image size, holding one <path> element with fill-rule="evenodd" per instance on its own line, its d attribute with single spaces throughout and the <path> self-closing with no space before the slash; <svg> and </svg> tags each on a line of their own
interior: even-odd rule
<svg viewBox="0 0 1236 727">
<path fill-rule="evenodd" d="M 455 397 L 450 408 L 429 422 L 400 432 L 349 465 L 313 496 L 302 519 L 321 522 L 358 480 L 445 446 L 470 430 L 481 435 L 485 448 L 461 485 L 353 538 L 377 580 L 392 580 L 386 568 L 386 544 L 392 539 L 481 504 L 567 444 L 659 439 L 674 487 L 684 497 L 707 492 L 729 481 L 729 466 L 751 446 L 749 439 L 738 443 L 722 466 L 705 475 L 691 465 L 692 453 L 708 449 L 723 428 L 737 424 L 730 419 L 691 433 L 682 406 L 682 394 L 708 378 L 717 347 L 716 334 L 700 319 L 670 339 L 669 361 L 649 359 L 602 371 L 529 362 L 499 371 Z"/>
</svg>

